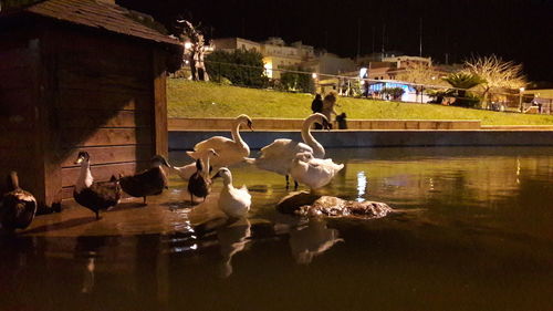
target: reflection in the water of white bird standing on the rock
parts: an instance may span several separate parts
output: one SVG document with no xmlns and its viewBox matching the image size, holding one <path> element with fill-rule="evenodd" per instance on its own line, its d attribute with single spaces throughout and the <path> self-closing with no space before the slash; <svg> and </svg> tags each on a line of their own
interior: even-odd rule
<svg viewBox="0 0 553 311">
<path fill-rule="evenodd" d="M 313 218 L 290 230 L 290 248 L 298 263 L 311 263 L 313 258 L 340 241 L 344 240 L 338 238 L 338 230 L 327 228 L 324 219 Z"/>
</svg>

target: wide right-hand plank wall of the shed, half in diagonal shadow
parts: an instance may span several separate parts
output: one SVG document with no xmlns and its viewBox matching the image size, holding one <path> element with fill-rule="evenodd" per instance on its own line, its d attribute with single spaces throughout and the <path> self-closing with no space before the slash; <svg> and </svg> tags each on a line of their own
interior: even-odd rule
<svg viewBox="0 0 553 311">
<path fill-rule="evenodd" d="M 153 52 L 112 35 L 55 32 L 55 111 L 63 197 L 72 196 L 80 151 L 96 180 L 142 170 L 155 152 Z"/>
</svg>

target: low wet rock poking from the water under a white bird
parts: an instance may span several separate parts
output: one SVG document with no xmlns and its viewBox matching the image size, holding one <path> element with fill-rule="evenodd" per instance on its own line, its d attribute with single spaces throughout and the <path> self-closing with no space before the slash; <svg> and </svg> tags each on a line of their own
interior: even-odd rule
<svg viewBox="0 0 553 311">
<path fill-rule="evenodd" d="M 285 214 L 317 217 L 363 217 L 380 218 L 393 209 L 379 201 L 353 201 L 332 196 L 317 196 L 310 193 L 294 193 L 284 197 L 278 209 Z"/>
</svg>

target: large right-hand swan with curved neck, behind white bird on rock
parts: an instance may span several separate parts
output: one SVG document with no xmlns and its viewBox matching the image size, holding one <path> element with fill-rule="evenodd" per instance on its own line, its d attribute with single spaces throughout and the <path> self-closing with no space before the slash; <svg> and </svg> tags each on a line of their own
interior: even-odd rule
<svg viewBox="0 0 553 311">
<path fill-rule="evenodd" d="M 323 158 L 325 151 L 324 147 L 311 135 L 311 126 L 313 123 L 321 123 L 323 127 L 327 128 L 328 120 L 320 113 L 310 115 L 303 122 L 302 138 L 305 143 L 294 142 L 288 138 L 275 139 L 268 146 L 261 148 L 261 156 L 259 158 L 246 158 L 249 164 L 254 164 L 258 168 L 274 172 L 286 177 L 286 187 L 289 185 L 288 175 L 292 163 L 298 153 L 311 153 L 316 158 Z M 298 186 L 298 185 L 296 185 Z"/>
</svg>

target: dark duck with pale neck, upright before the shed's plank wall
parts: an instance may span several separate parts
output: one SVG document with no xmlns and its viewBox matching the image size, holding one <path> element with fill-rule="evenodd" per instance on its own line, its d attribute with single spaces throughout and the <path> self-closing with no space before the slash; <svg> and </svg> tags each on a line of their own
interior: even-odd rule
<svg viewBox="0 0 553 311">
<path fill-rule="evenodd" d="M 91 173 L 91 157 L 87 152 L 80 152 L 75 164 L 81 165 L 81 173 L 73 190 L 73 197 L 80 205 L 88 208 L 100 219 L 100 210 L 107 210 L 121 200 L 119 182 L 112 176 L 109 182 L 96 182 Z"/>
</svg>

